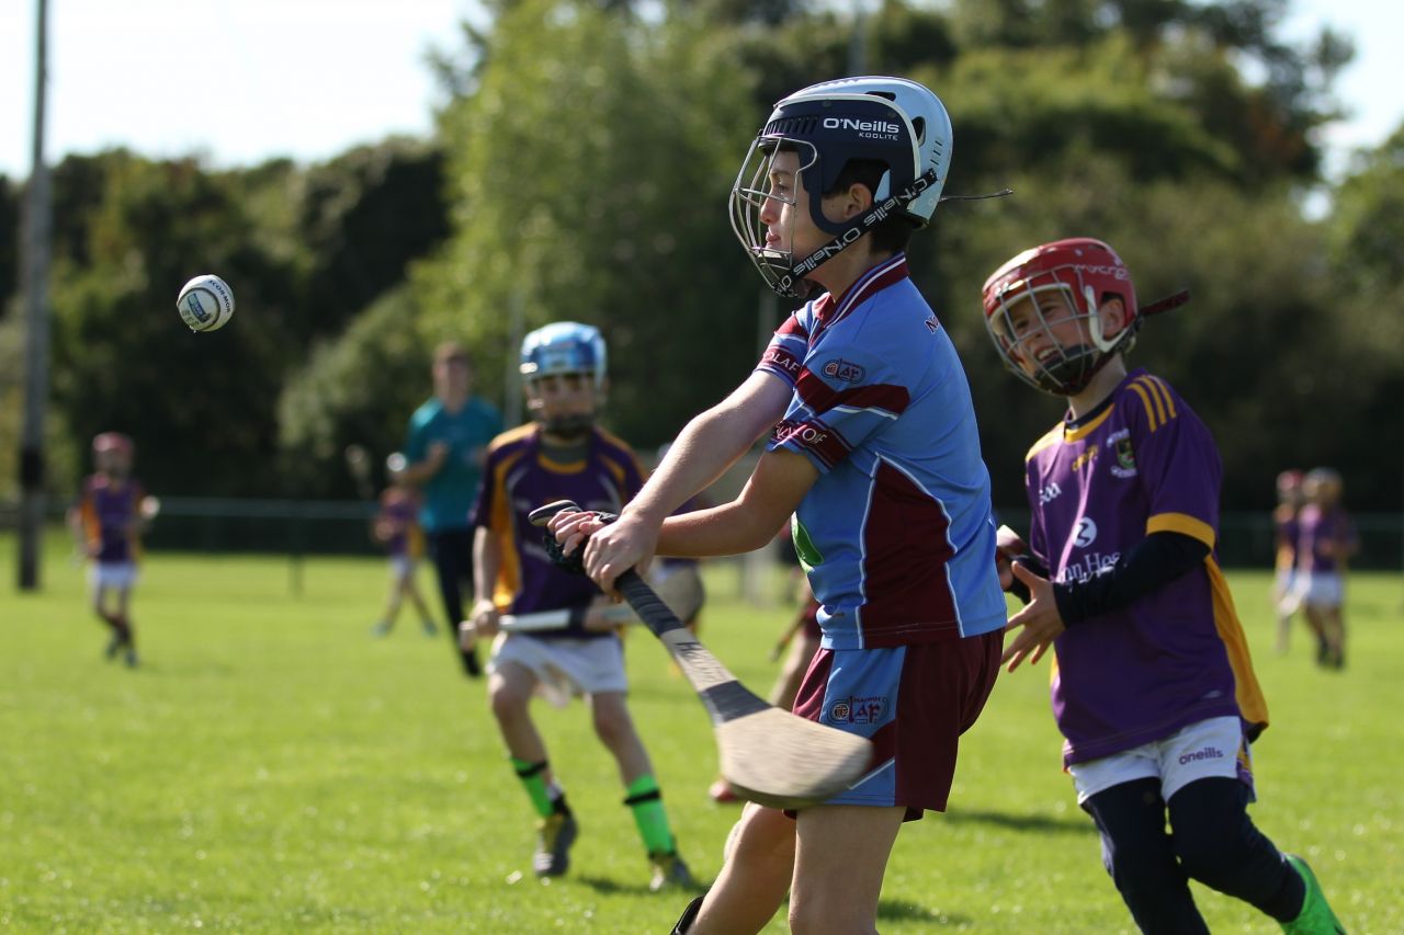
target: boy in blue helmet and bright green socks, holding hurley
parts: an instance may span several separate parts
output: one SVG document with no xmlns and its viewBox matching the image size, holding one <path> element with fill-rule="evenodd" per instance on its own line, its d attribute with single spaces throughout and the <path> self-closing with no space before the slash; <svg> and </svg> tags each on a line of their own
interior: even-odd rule
<svg viewBox="0 0 1404 935">
<path fill-rule="evenodd" d="M 489 449 L 475 510 L 473 629 L 493 635 L 503 612 L 581 611 L 581 621 L 563 630 L 498 635 L 487 667 L 493 715 L 539 818 L 534 869 L 539 876 L 564 873 L 578 827 L 529 703 L 538 692 L 557 703 L 584 695 L 653 865 L 649 889 L 691 886 L 629 715 L 623 643 L 600 614 L 609 601 L 588 578 L 552 564 L 528 519 L 532 508 L 553 500 L 616 512 L 643 483 L 633 451 L 594 424 L 605 397 L 605 343 L 594 327 L 556 321 L 526 336 L 521 359 L 535 421 L 500 435 Z"/>
</svg>

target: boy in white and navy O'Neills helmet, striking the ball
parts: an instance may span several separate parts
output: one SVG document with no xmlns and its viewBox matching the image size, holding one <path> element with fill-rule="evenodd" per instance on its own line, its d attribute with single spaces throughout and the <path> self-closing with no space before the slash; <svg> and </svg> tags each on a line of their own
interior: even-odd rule
<svg viewBox="0 0 1404 935">
<path fill-rule="evenodd" d="M 762 548 L 795 514 L 824 636 L 793 710 L 875 744 L 870 772 L 830 802 L 748 804 L 677 931 L 760 931 L 789 891 L 796 931 L 873 932 L 897 831 L 945 809 L 958 740 L 995 681 L 988 473 L 965 371 L 904 254 L 949 164 L 945 107 L 914 81 L 845 79 L 779 101 L 733 187 L 731 225 L 775 292 L 810 300 L 615 524 L 553 522 L 608 590 L 656 552 Z M 760 439 L 737 500 L 668 518 Z"/>
</svg>

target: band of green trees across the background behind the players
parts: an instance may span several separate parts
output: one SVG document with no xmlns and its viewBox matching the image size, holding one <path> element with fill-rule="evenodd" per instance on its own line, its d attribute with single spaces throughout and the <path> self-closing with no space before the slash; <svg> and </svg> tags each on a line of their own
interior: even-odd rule
<svg viewBox="0 0 1404 935">
<path fill-rule="evenodd" d="M 1362 154 L 1328 218 L 1304 216 L 1351 48 L 1330 31 L 1285 42 L 1286 0 L 883 0 L 861 29 L 845 4 L 806 0 L 484 8 L 490 22 L 431 63 L 449 95 L 432 139 L 316 166 L 212 171 L 112 150 L 55 167 L 56 491 L 91 434 L 117 428 L 161 493 L 350 496 L 341 451 L 400 444 L 434 343 L 469 343 L 480 392 L 508 402 L 522 331 L 559 319 L 609 341 L 611 427 L 640 448 L 670 439 L 786 310 L 727 223 L 750 136 L 778 98 L 862 62 L 951 110 L 946 192 L 1015 190 L 948 202 L 911 248 L 963 354 L 997 503 L 1021 501 L 1024 451 L 1060 404 L 1004 373 L 980 285 L 1024 247 L 1091 234 L 1144 299 L 1192 289 L 1132 362 L 1216 431 L 1227 503 L 1264 507 L 1278 469 L 1332 463 L 1353 505 L 1398 505 L 1379 432 L 1397 437 L 1404 390 L 1390 313 L 1404 128 Z M 0 260 L 21 198 L 0 180 Z M 0 270 L 0 302 L 15 271 Z M 171 307 L 199 272 L 237 295 L 216 334 L 185 333 Z M 7 437 L 22 327 L 0 320 Z"/>
</svg>

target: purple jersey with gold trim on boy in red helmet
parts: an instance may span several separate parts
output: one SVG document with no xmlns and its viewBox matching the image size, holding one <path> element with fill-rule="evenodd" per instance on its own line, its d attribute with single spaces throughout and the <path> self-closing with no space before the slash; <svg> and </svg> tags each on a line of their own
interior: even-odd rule
<svg viewBox="0 0 1404 935">
<path fill-rule="evenodd" d="M 1240 716 L 1257 736 L 1268 710 L 1213 552 L 1223 468 L 1199 417 L 1165 380 L 1133 371 L 1082 424 L 1039 439 L 1025 469 L 1029 548 L 1057 581 L 1102 574 L 1151 532 L 1210 548 L 1203 570 L 1054 640 L 1063 762 L 1098 760 L 1224 715 Z"/>
</svg>

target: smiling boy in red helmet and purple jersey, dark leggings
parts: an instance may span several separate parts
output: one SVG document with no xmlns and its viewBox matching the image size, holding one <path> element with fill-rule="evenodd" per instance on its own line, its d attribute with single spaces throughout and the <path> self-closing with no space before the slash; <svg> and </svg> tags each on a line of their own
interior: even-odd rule
<svg viewBox="0 0 1404 935">
<path fill-rule="evenodd" d="M 1001 578 L 1032 599 L 1004 660 L 1056 647 L 1063 762 L 1132 917 L 1207 932 L 1195 879 L 1289 932 L 1338 932 L 1307 865 L 1248 818 L 1248 741 L 1268 712 L 1213 552 L 1219 451 L 1165 380 L 1126 371 L 1130 272 L 1099 240 L 1059 240 L 1000 267 L 984 310 L 1009 371 L 1068 403 L 1025 465 L 1029 553 Z M 1001 539 L 1005 557 L 1024 549 Z"/>
</svg>

